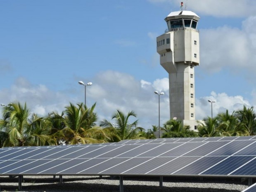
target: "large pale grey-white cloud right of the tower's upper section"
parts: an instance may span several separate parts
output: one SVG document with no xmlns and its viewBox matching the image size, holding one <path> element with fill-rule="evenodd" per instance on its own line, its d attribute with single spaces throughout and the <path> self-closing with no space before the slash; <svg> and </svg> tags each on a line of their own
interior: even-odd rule
<svg viewBox="0 0 256 192">
<path fill-rule="evenodd" d="M 200 63 L 206 71 L 256 72 L 256 17 L 243 22 L 242 29 L 228 26 L 200 31 Z M 211 37 L 211 38 L 209 38 Z"/>
</svg>

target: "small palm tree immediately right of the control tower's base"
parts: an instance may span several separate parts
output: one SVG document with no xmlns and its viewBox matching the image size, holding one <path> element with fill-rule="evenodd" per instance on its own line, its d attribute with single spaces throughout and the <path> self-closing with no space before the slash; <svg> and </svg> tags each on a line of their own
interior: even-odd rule
<svg viewBox="0 0 256 192">
<path fill-rule="evenodd" d="M 216 137 L 220 136 L 218 131 L 218 121 L 216 118 L 208 117 L 203 122 L 198 121 L 198 135 L 200 137 Z"/>
</svg>

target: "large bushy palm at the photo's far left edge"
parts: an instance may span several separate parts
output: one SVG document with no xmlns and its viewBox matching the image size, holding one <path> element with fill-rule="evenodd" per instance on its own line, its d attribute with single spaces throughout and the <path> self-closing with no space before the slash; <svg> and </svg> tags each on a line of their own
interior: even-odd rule
<svg viewBox="0 0 256 192">
<path fill-rule="evenodd" d="M 0 131 L 1 147 L 56 144 L 49 136 L 50 129 L 44 126 L 44 119 L 31 114 L 26 103 L 24 107 L 16 102 L 3 108 Z"/>
</svg>

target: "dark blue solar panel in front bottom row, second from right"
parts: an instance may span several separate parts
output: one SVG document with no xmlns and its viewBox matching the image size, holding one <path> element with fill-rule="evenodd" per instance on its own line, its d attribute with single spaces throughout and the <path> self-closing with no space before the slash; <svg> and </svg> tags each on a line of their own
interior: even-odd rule
<svg viewBox="0 0 256 192">
<path fill-rule="evenodd" d="M 228 159 L 220 162 L 216 166 L 201 173 L 202 175 L 228 175 L 246 162 L 250 161 L 252 156 L 230 156 Z"/>
</svg>

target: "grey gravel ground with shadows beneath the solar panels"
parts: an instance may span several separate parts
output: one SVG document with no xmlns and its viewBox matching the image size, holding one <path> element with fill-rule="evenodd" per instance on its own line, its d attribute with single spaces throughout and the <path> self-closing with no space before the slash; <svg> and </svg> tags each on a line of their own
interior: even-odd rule
<svg viewBox="0 0 256 192">
<path fill-rule="evenodd" d="M 63 176 L 63 182 L 52 176 L 24 176 L 23 192 L 119 192 L 119 178 L 109 176 Z M 124 177 L 124 192 L 241 192 L 247 180 L 204 178 L 166 178 L 159 188 L 158 178 Z M 18 191 L 18 178 L 0 176 L 1 192 Z"/>
</svg>

